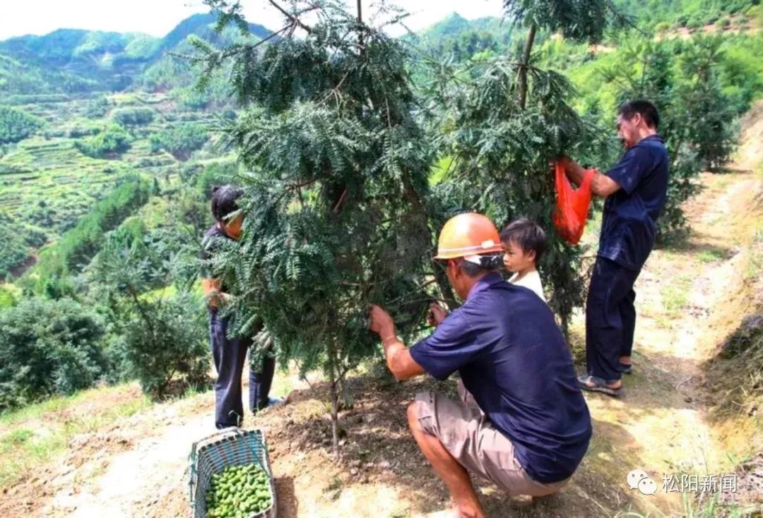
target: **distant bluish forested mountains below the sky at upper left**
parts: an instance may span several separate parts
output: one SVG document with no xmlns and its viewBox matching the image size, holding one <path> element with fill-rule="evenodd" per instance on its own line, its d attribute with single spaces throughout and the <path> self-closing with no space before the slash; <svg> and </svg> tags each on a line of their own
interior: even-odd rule
<svg viewBox="0 0 763 518">
<path fill-rule="evenodd" d="M 0 92 L 50 94 L 140 88 L 143 73 L 168 52 L 188 50 L 188 36 L 217 44 L 233 37 L 230 33 L 215 34 L 215 21 L 213 14 L 194 14 L 163 38 L 79 29 L 13 37 L 0 42 Z M 270 34 L 262 25 L 249 27 L 252 37 Z"/>
</svg>

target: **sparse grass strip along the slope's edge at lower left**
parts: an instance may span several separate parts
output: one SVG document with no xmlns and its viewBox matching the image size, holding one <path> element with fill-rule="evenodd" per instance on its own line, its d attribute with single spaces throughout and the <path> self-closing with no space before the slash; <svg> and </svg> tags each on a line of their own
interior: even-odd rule
<svg viewBox="0 0 763 518">
<path fill-rule="evenodd" d="M 21 481 L 62 453 L 79 433 L 94 432 L 152 402 L 135 385 L 91 389 L 0 416 L 0 488 Z"/>
</svg>

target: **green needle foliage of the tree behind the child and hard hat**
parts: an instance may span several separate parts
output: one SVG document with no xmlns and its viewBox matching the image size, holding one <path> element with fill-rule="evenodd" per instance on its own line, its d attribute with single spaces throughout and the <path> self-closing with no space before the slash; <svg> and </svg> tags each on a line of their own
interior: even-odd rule
<svg viewBox="0 0 763 518">
<path fill-rule="evenodd" d="M 540 271 L 552 287 L 550 305 L 566 326 L 583 301 L 581 249 L 554 230 L 550 163 L 563 153 L 588 154 L 597 140 L 567 104 L 573 91 L 562 75 L 530 67 L 529 95 L 526 107 L 520 107 L 521 66 L 500 58 L 472 62 L 468 69 L 442 69 L 430 116 L 439 126 L 440 154 L 453 160 L 435 193 L 446 212 L 465 207 L 498 225 L 526 216 L 546 229 L 548 249 Z"/>
</svg>

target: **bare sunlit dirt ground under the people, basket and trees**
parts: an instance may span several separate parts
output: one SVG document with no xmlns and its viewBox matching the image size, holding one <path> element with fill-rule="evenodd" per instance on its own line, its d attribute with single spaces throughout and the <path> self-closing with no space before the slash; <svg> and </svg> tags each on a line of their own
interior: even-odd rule
<svg viewBox="0 0 763 518">
<path fill-rule="evenodd" d="M 757 414 L 708 419 L 716 401 L 703 367 L 755 308 L 751 289 L 760 284 L 745 273 L 750 243 L 763 228 L 763 180 L 755 172 L 763 107 L 753 115 L 731 171 L 700 177 L 703 192 L 686 207 L 691 237 L 653 252 L 639 277 L 634 373 L 624 379 L 624 398 L 586 395 L 594 438 L 571 484 L 530 502 L 477 480 L 488 516 L 684 516 L 685 498 L 662 491 L 665 475 L 729 474 L 738 469 L 735 459 L 753 456 L 755 469 L 742 480 L 763 477 L 763 457 L 754 457 L 763 451 Z M 578 355 L 582 331 L 578 315 L 571 340 Z M 276 385 L 291 390 L 288 403 L 247 416 L 244 427 L 266 435 L 278 516 L 403 518 L 448 507 L 443 484 L 407 430 L 405 409 L 416 392 L 452 392 L 455 381 L 397 383 L 382 366 L 352 379 L 355 404 L 340 414 L 336 459 L 327 387 L 315 376 L 311 386 L 293 374 L 276 376 Z M 0 516 L 187 516 L 188 453 L 214 432 L 213 411 L 206 392 L 76 436 L 62 459 L 2 490 Z M 657 482 L 656 494 L 629 489 L 634 468 Z M 761 493 L 741 496 L 752 501 Z"/>
</svg>

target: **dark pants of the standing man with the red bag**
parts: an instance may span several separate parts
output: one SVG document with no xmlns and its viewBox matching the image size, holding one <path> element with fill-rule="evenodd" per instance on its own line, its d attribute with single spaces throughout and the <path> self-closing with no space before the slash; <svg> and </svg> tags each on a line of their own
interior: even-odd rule
<svg viewBox="0 0 763 518">
<path fill-rule="evenodd" d="M 585 303 L 585 362 L 591 376 L 620 379 L 620 357 L 630 356 L 633 350 L 633 284 L 639 272 L 604 257 L 596 258 Z"/>
</svg>

